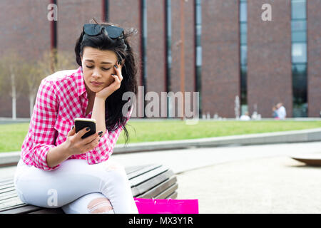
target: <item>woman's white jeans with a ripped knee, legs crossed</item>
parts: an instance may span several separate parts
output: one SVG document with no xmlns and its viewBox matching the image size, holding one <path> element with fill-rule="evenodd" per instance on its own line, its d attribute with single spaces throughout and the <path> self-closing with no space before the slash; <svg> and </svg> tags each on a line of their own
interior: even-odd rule
<svg viewBox="0 0 321 228">
<path fill-rule="evenodd" d="M 88 204 L 101 197 L 109 199 L 115 213 L 138 213 L 126 172 L 111 158 L 95 165 L 69 159 L 51 171 L 19 160 L 14 186 L 22 202 L 46 208 L 62 207 L 67 214 L 90 213 Z"/>
</svg>

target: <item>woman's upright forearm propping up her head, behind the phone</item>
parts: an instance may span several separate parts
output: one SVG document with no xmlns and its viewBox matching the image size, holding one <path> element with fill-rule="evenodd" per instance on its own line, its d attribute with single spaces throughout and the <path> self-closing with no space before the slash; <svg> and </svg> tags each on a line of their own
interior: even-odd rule
<svg viewBox="0 0 321 228">
<path fill-rule="evenodd" d="M 106 132 L 105 123 L 105 100 L 102 98 L 95 98 L 93 103 L 93 112 L 91 113 L 91 118 L 96 120 L 96 132 L 103 131 Z"/>
</svg>

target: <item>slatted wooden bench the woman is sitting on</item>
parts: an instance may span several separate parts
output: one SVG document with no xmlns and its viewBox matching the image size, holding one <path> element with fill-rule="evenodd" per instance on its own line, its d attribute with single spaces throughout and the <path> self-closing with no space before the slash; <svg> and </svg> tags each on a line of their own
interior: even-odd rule
<svg viewBox="0 0 321 228">
<path fill-rule="evenodd" d="M 177 178 L 163 165 L 143 165 L 125 168 L 133 197 L 175 199 Z M 14 189 L 14 179 L 0 180 L 0 214 L 62 214 L 61 208 L 44 208 L 21 202 Z"/>
</svg>

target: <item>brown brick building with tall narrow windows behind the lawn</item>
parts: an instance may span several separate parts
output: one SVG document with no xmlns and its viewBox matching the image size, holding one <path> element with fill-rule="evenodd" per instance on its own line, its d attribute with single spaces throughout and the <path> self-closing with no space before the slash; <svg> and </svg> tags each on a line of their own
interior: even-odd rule
<svg viewBox="0 0 321 228">
<path fill-rule="evenodd" d="M 49 4 L 57 21 L 47 19 Z M 183 63 L 184 90 L 200 92 L 200 115 L 234 118 L 238 95 L 241 113 L 270 118 L 282 102 L 287 117 L 320 116 L 320 0 L 2 0 L 0 9 L 1 55 L 13 46 L 28 58 L 53 47 L 73 53 L 94 17 L 138 29 L 132 46 L 145 92 L 180 91 Z M 10 96 L 0 103 L 0 116 L 11 117 Z M 27 96 L 17 100 L 17 117 L 29 117 Z"/>
</svg>

